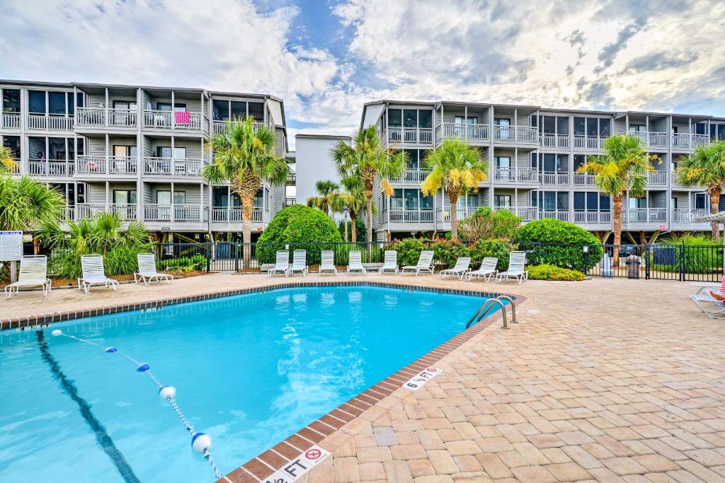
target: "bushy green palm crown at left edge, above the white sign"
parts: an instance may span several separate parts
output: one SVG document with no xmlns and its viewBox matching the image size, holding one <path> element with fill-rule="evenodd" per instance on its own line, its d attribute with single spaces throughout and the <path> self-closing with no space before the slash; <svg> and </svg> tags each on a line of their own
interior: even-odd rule
<svg viewBox="0 0 725 483">
<path fill-rule="evenodd" d="M 63 196 L 45 183 L 0 176 L 0 230 L 28 230 L 55 219 L 64 207 Z"/>
</svg>

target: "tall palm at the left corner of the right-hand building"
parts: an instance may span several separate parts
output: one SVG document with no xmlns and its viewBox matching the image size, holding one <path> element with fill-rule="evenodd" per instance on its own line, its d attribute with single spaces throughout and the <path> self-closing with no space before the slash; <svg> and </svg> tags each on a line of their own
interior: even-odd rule
<svg viewBox="0 0 725 483">
<path fill-rule="evenodd" d="M 373 241 L 373 188 L 380 178 L 381 189 L 386 196 L 394 190 L 389 179 L 402 175 L 407 166 L 405 151 L 383 146 L 374 125 L 357 131 L 352 145 L 338 141 L 330 151 L 341 177 L 354 176 L 363 182 L 368 214 L 368 242 Z"/>
</svg>

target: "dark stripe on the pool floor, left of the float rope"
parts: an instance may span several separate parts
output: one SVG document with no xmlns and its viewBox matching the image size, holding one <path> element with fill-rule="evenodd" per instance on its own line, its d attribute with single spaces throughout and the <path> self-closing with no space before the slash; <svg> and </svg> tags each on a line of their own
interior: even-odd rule
<svg viewBox="0 0 725 483">
<path fill-rule="evenodd" d="M 141 481 L 136 477 L 136 474 L 133 474 L 133 469 L 131 469 L 128 465 L 126 458 L 123 457 L 123 453 L 116 448 L 113 440 L 106 432 L 106 428 L 103 427 L 101 421 L 99 421 L 93 411 L 91 411 L 91 405 L 78 395 L 78 387 L 75 387 L 75 385 L 68 380 L 65 374 L 63 374 L 63 371 L 60 369 L 60 364 L 50 353 L 48 341 L 45 340 L 43 331 L 38 330 L 36 334 L 38 337 L 38 348 L 41 350 L 43 361 L 48 364 L 54 379 L 58 379 L 60 382 L 60 387 L 62 387 L 63 392 L 65 392 L 72 400 L 75 401 L 76 404 L 78 404 L 80 415 L 83 416 L 83 419 L 86 420 L 88 426 L 91 427 L 91 430 L 93 430 L 94 435 L 96 436 L 96 441 L 101 446 L 101 449 L 104 450 L 104 453 L 108 455 L 111 463 L 116 466 L 116 469 L 123 478 L 123 481 L 126 483 L 141 483 Z"/>
</svg>

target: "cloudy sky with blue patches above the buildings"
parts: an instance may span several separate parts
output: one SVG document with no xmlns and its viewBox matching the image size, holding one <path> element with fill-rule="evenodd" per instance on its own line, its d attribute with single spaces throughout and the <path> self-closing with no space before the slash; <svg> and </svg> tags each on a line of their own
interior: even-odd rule
<svg viewBox="0 0 725 483">
<path fill-rule="evenodd" d="M 725 116 L 718 0 L 2 0 L 0 18 L 0 78 L 272 93 L 291 136 L 352 133 L 379 98 Z"/>
</svg>

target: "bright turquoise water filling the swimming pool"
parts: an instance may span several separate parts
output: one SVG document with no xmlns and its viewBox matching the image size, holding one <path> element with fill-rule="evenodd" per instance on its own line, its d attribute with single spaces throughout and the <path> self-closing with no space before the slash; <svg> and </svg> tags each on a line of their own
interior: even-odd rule
<svg viewBox="0 0 725 483">
<path fill-rule="evenodd" d="M 462 331 L 481 301 L 307 287 L 55 324 L 44 342 L 0 332 L 0 482 L 215 480 L 148 377 L 51 329 L 148 363 L 227 473 Z"/>
</svg>

